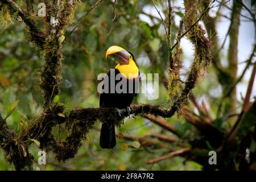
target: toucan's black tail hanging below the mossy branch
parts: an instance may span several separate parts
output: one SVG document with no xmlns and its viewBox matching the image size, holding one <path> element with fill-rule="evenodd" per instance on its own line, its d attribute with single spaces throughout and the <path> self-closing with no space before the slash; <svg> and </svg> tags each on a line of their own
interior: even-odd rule
<svg viewBox="0 0 256 182">
<path fill-rule="evenodd" d="M 115 141 L 115 126 L 109 123 L 103 123 L 100 137 L 101 148 L 113 148 L 115 144 L 117 144 Z"/>
</svg>

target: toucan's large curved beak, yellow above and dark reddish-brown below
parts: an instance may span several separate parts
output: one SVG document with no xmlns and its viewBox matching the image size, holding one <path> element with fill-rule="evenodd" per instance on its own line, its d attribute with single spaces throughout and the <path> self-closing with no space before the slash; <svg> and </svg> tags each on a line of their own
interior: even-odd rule
<svg viewBox="0 0 256 182">
<path fill-rule="evenodd" d="M 118 61 L 119 64 L 129 64 L 130 53 L 122 47 L 111 46 L 106 51 L 106 59 L 108 58 L 108 56 L 113 57 L 115 60 Z"/>
</svg>

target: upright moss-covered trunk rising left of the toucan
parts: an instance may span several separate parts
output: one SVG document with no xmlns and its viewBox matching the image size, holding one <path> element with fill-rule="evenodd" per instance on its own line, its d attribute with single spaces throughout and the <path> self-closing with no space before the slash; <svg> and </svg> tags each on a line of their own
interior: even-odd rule
<svg viewBox="0 0 256 182">
<path fill-rule="evenodd" d="M 60 11 L 60 5 L 47 2 L 51 11 L 49 10 L 47 15 L 47 38 L 43 46 L 45 61 L 41 74 L 42 81 L 40 82 L 44 96 L 44 109 L 51 106 L 53 98 L 60 93 L 63 60 L 61 52 L 63 41 L 60 40 L 60 36 L 64 34 L 65 29 L 71 23 L 76 3 L 76 1 L 64 1 L 64 8 Z"/>
</svg>

